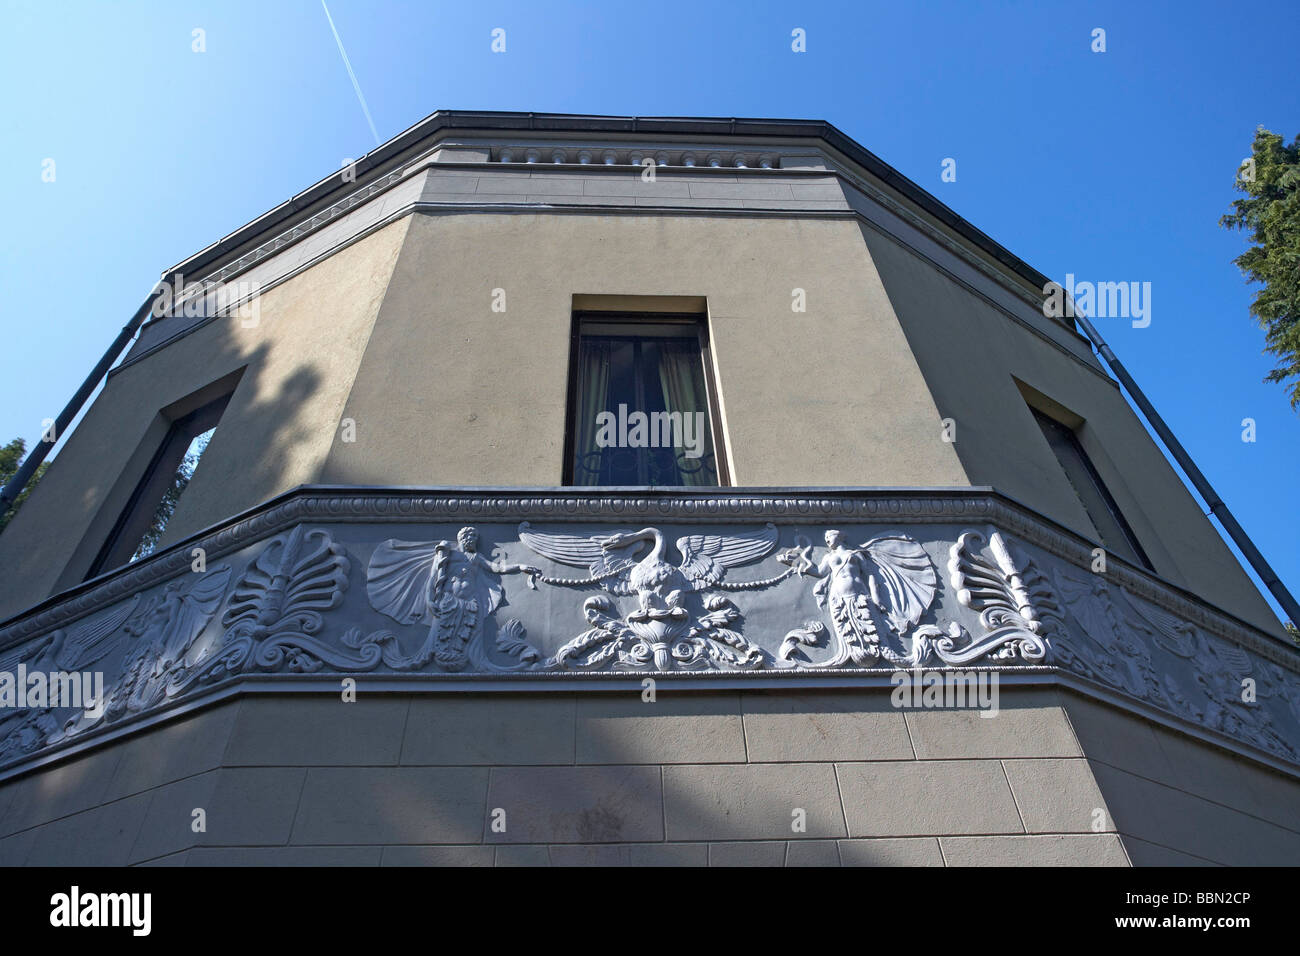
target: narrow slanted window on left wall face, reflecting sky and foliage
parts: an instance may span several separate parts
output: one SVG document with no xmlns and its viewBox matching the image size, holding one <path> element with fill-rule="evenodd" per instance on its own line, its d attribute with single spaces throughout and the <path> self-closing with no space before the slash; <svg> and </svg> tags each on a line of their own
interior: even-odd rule
<svg viewBox="0 0 1300 956">
<path fill-rule="evenodd" d="M 87 578 L 153 553 L 185 489 L 194 479 L 230 393 L 172 421 L 161 447 L 135 486 Z"/>
</svg>

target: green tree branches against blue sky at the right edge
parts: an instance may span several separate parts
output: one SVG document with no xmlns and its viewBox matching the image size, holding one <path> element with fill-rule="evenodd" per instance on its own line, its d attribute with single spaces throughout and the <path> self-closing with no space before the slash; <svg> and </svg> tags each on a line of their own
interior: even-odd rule
<svg viewBox="0 0 1300 956">
<path fill-rule="evenodd" d="M 1262 126 L 1254 131 L 1251 159 L 1238 170 L 1245 199 L 1219 220 L 1227 229 L 1251 230 L 1254 243 L 1232 261 L 1252 282 L 1264 285 L 1251 315 L 1264 326 L 1265 350 L 1278 367 L 1265 381 L 1282 382 L 1291 407 L 1300 407 L 1300 135 L 1291 146 Z M 1294 378 L 1290 385 L 1287 380 Z"/>
</svg>

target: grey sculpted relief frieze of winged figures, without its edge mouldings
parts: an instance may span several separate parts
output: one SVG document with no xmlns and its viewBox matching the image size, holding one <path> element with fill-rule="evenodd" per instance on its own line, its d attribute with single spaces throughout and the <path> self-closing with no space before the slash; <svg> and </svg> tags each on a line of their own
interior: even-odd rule
<svg viewBox="0 0 1300 956">
<path fill-rule="evenodd" d="M 263 522 L 212 570 L 172 572 L 66 620 L 44 611 L 56 626 L 10 643 L 0 674 L 100 670 L 101 706 L 0 709 L 0 766 L 250 674 L 545 688 L 589 672 L 798 680 L 916 667 L 1070 674 L 1300 763 L 1300 680 L 1284 648 L 1252 650 L 1171 610 L 1175 598 L 1153 600 L 1157 588 L 1135 593 L 987 523 L 745 523 L 776 509 L 740 501 L 722 524 L 673 514 L 540 527 L 508 523 L 514 507 L 478 507 L 474 524 L 442 518 L 424 537 L 420 520 L 393 537 L 364 514 L 269 536 Z"/>
</svg>

